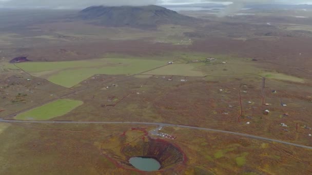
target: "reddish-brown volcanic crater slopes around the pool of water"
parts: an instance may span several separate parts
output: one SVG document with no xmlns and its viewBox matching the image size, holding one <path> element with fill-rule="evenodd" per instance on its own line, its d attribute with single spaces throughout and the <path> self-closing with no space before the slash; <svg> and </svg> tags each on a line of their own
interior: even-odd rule
<svg viewBox="0 0 312 175">
<path fill-rule="evenodd" d="M 179 146 L 163 139 L 153 139 L 145 130 L 132 129 L 118 138 L 111 138 L 102 145 L 110 147 L 110 149 L 102 149 L 103 154 L 125 169 L 137 170 L 129 163 L 129 159 L 134 157 L 157 160 L 161 165 L 160 171 L 182 165 L 186 161 L 186 156 Z"/>
</svg>

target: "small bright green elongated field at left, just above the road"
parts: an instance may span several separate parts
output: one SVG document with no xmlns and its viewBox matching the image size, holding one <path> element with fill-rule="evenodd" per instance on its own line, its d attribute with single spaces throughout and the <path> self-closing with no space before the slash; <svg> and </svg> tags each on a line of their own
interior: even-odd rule
<svg viewBox="0 0 312 175">
<path fill-rule="evenodd" d="M 78 100 L 60 99 L 19 114 L 15 119 L 48 120 L 54 117 L 63 116 L 82 104 L 83 102 Z"/>
</svg>

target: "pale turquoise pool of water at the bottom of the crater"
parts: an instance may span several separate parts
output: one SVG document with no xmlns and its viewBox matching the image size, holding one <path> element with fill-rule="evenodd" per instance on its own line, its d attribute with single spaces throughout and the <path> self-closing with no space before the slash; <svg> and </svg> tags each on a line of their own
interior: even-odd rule
<svg viewBox="0 0 312 175">
<path fill-rule="evenodd" d="M 157 171 L 161 167 L 160 163 L 152 158 L 133 157 L 129 163 L 141 171 Z"/>
</svg>

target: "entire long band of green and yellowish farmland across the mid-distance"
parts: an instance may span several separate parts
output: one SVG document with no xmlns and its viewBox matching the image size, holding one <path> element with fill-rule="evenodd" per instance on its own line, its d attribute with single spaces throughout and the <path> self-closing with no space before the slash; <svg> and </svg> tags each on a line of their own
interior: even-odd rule
<svg viewBox="0 0 312 175">
<path fill-rule="evenodd" d="M 236 58 L 230 55 L 209 55 L 203 53 L 172 52 L 161 56 L 133 57 L 128 55 L 107 54 L 106 58 L 59 61 L 59 62 L 24 62 L 18 67 L 33 76 L 45 78 L 48 81 L 71 88 L 95 74 L 107 75 L 178 75 L 189 77 L 203 76 L 265 76 L 268 78 L 303 82 L 301 78 L 280 73 L 264 72 L 251 62 L 250 58 Z M 216 60 L 207 61 L 205 58 Z M 200 59 L 200 62 L 191 62 Z M 174 64 L 166 65 L 174 60 Z M 158 68 L 161 67 L 161 68 Z M 13 68 L 10 66 L 10 68 Z M 155 69 L 158 68 L 158 69 Z"/>
</svg>

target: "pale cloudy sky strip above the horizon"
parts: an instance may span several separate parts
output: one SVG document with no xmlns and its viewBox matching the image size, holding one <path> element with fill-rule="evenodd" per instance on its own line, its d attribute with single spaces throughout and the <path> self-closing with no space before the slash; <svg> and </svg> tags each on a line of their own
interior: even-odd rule
<svg viewBox="0 0 312 175">
<path fill-rule="evenodd" d="M 173 5 L 192 3 L 220 4 L 312 4 L 312 0 L 0 0 L 0 7 L 85 8 L 92 5 Z"/>
</svg>

